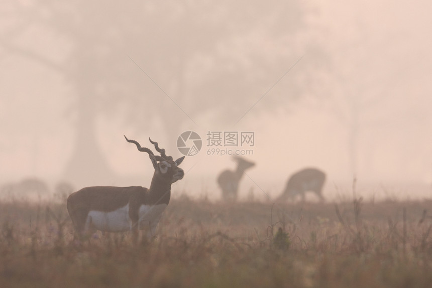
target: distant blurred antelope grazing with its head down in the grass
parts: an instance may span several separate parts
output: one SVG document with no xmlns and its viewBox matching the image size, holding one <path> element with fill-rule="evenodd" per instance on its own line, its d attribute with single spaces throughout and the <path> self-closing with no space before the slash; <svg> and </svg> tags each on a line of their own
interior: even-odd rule
<svg viewBox="0 0 432 288">
<path fill-rule="evenodd" d="M 304 201 L 308 191 L 314 192 L 323 201 L 322 186 L 325 181 L 326 174 L 324 172 L 314 168 L 303 169 L 289 178 L 285 190 L 277 201 L 286 201 L 287 198 L 294 200 L 297 195 L 300 195 L 301 200 Z"/>
</svg>

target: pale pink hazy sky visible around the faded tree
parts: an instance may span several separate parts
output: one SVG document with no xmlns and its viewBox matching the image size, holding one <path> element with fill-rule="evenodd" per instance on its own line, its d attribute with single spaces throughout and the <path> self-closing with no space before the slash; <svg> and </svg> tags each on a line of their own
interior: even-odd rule
<svg viewBox="0 0 432 288">
<path fill-rule="evenodd" d="M 314 12 L 308 17 L 313 29 L 304 37 L 318 39 L 323 44 L 335 70 L 340 72 L 340 79 L 322 75 L 328 86 L 317 93 L 322 93 L 318 97 L 329 97 L 325 105 L 308 98 L 293 103 L 290 114 L 280 109 L 261 113 L 259 117 L 246 115 L 235 126 L 237 131 L 255 132 L 256 145 L 250 159 L 257 166 L 248 175 L 273 194 L 282 190 L 291 173 L 305 166 L 327 172 L 330 183 L 327 189 L 333 188 L 332 182 L 350 182 L 347 137 L 350 103 L 354 103 L 360 118 L 359 179 L 430 185 L 432 4 L 315 1 L 308 7 Z M 33 33 L 23 35 L 22 41 L 35 41 L 36 49 L 42 49 L 49 45 L 44 41 L 50 39 L 44 33 L 35 28 Z M 257 47 L 263 43 L 263 35 L 249 37 L 248 41 L 256 42 Z M 70 45 L 67 40 L 58 41 L 64 42 L 64 47 Z M 61 59 L 62 53 L 52 57 Z M 307 61 L 312 60 L 305 54 L 298 65 Z M 192 73 L 189 77 L 199 75 Z M 277 89 L 273 92 L 280 93 Z M 8 53 L 0 44 L 0 182 L 25 177 L 54 181 L 61 177 L 74 137 L 65 102 L 71 93 L 62 77 L 52 70 Z M 269 93 L 266 97 L 276 96 Z M 260 109 L 261 105 L 266 105 L 266 98 L 254 109 Z M 205 137 L 208 130 L 224 129 L 213 121 L 211 114 L 195 120 L 199 127 L 185 123 L 183 130 L 192 129 Z M 125 145 L 123 134 L 135 137 L 132 129 L 125 129 L 119 122 L 116 117 L 100 118 L 97 137 L 101 149 L 113 170 L 125 176 L 142 173 L 143 182 L 149 183 L 148 159 L 137 156 L 135 150 Z M 160 142 L 165 137 L 157 126 L 147 134 Z M 146 141 L 146 137 L 137 140 Z M 228 157 L 212 157 L 202 152 L 182 164 L 185 171 L 193 168 L 178 189 L 217 190 L 214 183 L 217 174 L 225 168 L 234 168 Z M 177 151 L 170 154 L 180 156 Z M 245 180 L 242 193 L 246 194 L 251 187 L 253 183 Z"/>
</svg>

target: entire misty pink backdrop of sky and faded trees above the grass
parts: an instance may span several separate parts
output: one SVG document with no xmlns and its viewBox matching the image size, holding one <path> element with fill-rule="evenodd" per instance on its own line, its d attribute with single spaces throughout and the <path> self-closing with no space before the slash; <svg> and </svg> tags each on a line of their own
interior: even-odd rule
<svg viewBox="0 0 432 288">
<path fill-rule="evenodd" d="M 128 138 L 167 154 L 173 196 L 219 199 L 235 169 L 208 131 L 253 131 L 240 198 L 304 168 L 325 197 L 432 193 L 432 3 L 427 1 L 0 1 L 0 185 L 149 187 Z"/>
</svg>

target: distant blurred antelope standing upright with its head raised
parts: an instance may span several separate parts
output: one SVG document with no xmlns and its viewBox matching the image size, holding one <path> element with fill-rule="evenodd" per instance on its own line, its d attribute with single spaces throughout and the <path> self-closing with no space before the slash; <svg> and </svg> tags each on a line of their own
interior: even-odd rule
<svg viewBox="0 0 432 288">
<path fill-rule="evenodd" d="M 237 162 L 237 169 L 235 171 L 225 170 L 218 177 L 218 184 L 222 190 L 222 199 L 226 201 L 237 200 L 239 183 L 245 170 L 255 165 L 255 163 L 238 156 L 234 156 L 233 159 Z"/>
</svg>

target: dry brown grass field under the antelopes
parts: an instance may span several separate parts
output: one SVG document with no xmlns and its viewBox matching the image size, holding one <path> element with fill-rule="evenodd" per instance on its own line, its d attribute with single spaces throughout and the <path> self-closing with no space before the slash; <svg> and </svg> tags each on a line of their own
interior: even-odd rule
<svg viewBox="0 0 432 288">
<path fill-rule="evenodd" d="M 180 197 L 133 247 L 129 233 L 74 242 L 64 202 L 1 202 L 0 287 L 431 287 L 431 215 L 432 201 Z"/>
</svg>

